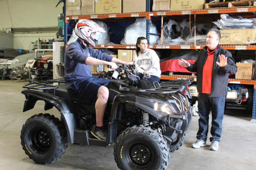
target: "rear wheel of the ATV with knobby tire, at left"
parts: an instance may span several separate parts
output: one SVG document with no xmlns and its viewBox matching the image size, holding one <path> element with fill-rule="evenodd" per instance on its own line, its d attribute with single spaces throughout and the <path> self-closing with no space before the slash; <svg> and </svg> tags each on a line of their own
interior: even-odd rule
<svg viewBox="0 0 256 170">
<path fill-rule="evenodd" d="M 21 145 L 36 163 L 48 164 L 59 160 L 67 148 L 65 126 L 50 114 L 36 114 L 22 126 Z"/>
</svg>

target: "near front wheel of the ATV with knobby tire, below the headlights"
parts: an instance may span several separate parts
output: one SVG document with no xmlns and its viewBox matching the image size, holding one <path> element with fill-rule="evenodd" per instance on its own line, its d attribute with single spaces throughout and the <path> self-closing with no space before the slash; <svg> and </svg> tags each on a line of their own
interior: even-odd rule
<svg viewBox="0 0 256 170">
<path fill-rule="evenodd" d="M 133 126 L 117 137 L 114 157 L 122 170 L 160 170 L 166 169 L 170 152 L 166 140 L 157 131 Z"/>
</svg>

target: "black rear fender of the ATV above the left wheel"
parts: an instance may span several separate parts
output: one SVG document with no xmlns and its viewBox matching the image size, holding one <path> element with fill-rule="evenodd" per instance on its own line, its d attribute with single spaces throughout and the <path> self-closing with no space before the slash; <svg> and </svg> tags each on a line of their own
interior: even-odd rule
<svg viewBox="0 0 256 170">
<path fill-rule="evenodd" d="M 45 110 L 51 109 L 54 106 L 60 112 L 61 118 L 65 122 L 68 142 L 74 143 L 74 130 L 78 129 L 75 115 L 78 113 L 72 107 L 70 101 L 52 94 L 34 90 L 23 90 L 21 93 L 26 97 L 23 112 L 33 109 L 38 100 L 45 102 Z"/>
</svg>

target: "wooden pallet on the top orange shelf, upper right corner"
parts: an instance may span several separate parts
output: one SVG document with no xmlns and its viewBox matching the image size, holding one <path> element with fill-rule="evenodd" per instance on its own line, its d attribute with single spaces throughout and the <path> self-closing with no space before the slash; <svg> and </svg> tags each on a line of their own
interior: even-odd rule
<svg viewBox="0 0 256 170">
<path fill-rule="evenodd" d="M 233 2 L 218 2 L 218 3 L 205 4 L 205 9 L 241 8 L 241 7 L 256 7 L 256 1 L 233 1 Z"/>
</svg>

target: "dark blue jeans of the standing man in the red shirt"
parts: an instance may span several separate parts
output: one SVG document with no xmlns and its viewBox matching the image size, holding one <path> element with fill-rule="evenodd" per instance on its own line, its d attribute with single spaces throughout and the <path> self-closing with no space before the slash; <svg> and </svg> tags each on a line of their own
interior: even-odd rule
<svg viewBox="0 0 256 170">
<path fill-rule="evenodd" d="M 197 139 L 207 140 L 209 128 L 210 106 L 212 108 L 212 127 L 210 141 L 220 142 L 222 133 L 222 120 L 224 116 L 225 96 L 210 97 L 210 94 L 200 93 L 198 96 L 199 129 Z"/>
</svg>

